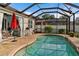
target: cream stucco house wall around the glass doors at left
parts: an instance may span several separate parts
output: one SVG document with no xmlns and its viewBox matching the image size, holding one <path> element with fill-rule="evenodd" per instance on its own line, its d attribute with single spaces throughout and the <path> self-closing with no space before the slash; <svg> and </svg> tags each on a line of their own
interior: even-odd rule
<svg viewBox="0 0 79 59">
<path fill-rule="evenodd" d="M 13 11 L 0 7 L 0 41 L 2 41 L 2 32 L 1 32 L 2 27 L 1 26 L 2 26 L 2 20 L 3 20 L 3 14 L 4 13 L 12 15 Z M 19 13 L 16 13 L 16 16 L 19 17 L 19 22 L 20 22 L 20 26 L 21 26 L 21 36 L 23 36 L 25 34 L 25 32 L 24 32 L 25 28 L 28 27 L 29 17 L 25 16 L 25 15 L 22 15 L 22 14 L 19 14 Z"/>
</svg>

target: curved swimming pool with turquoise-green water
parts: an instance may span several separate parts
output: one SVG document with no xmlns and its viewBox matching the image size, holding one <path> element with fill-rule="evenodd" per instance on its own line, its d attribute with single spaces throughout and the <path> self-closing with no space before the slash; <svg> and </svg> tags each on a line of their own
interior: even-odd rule
<svg viewBox="0 0 79 59">
<path fill-rule="evenodd" d="M 37 40 L 18 51 L 16 56 L 78 56 L 67 38 L 57 35 L 39 36 Z"/>
</svg>

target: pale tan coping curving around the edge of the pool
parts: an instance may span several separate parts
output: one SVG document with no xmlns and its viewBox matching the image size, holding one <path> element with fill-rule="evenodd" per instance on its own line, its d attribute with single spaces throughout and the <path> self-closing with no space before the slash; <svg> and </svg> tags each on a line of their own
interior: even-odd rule
<svg viewBox="0 0 79 59">
<path fill-rule="evenodd" d="M 64 34 L 38 34 L 37 36 L 40 36 L 40 35 L 58 35 L 58 36 L 63 36 L 65 38 L 67 38 L 68 41 L 70 41 L 74 46 L 75 46 L 75 49 L 77 50 L 77 52 L 79 52 L 79 44 L 76 44 L 73 40 L 76 39 L 76 37 L 70 37 L 68 35 L 64 35 Z M 19 48 L 17 48 L 16 50 L 13 49 L 12 52 L 9 54 L 9 56 L 15 56 L 15 54 L 23 49 L 24 47 L 34 43 L 36 41 L 36 38 L 37 36 L 35 37 L 34 41 L 31 41 L 30 43 L 28 44 L 24 44 L 24 45 L 21 45 Z"/>
</svg>

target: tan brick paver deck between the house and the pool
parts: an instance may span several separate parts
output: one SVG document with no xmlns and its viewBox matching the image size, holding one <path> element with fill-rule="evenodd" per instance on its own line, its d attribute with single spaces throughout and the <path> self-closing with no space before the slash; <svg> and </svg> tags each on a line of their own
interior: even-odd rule
<svg viewBox="0 0 79 59">
<path fill-rule="evenodd" d="M 35 41 L 36 36 L 36 34 L 33 34 L 29 36 L 16 38 L 16 42 L 12 42 L 13 39 L 9 39 L 0 43 L 0 56 L 7 56 L 10 55 L 12 52 L 14 53 L 14 51 L 22 45 L 27 45 Z"/>
</svg>

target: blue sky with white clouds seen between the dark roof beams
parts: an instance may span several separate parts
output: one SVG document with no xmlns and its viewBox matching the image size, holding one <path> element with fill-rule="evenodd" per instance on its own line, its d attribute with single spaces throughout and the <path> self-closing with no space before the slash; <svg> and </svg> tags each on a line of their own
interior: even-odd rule
<svg viewBox="0 0 79 59">
<path fill-rule="evenodd" d="M 22 11 L 22 10 L 24 10 L 25 8 L 27 8 L 28 6 L 30 6 L 30 5 L 32 5 L 32 4 L 33 4 L 33 3 L 12 3 L 12 4 L 10 4 L 9 6 L 11 6 L 11 7 L 15 8 L 15 9 L 17 9 L 17 10 L 19 10 L 19 11 Z M 74 4 L 79 6 L 78 3 L 74 3 Z M 66 5 L 66 6 L 67 6 L 67 5 Z M 70 10 L 72 10 L 73 12 L 78 11 L 77 8 L 74 8 L 74 7 L 71 7 L 71 6 L 67 6 L 68 8 L 65 7 L 65 5 L 64 5 L 63 3 L 42 3 L 42 4 L 38 4 L 38 5 L 33 6 L 32 8 L 28 9 L 28 10 L 25 11 L 24 13 L 26 13 L 26 14 L 29 15 L 29 14 L 31 14 L 31 13 L 37 11 L 37 10 L 40 9 L 40 8 L 50 8 L 50 7 L 60 7 L 60 8 L 63 8 L 63 9 L 65 9 L 65 10 L 68 10 L 68 8 L 70 8 Z M 51 11 L 51 10 L 47 10 L 47 11 Z M 55 9 L 55 10 L 52 10 L 52 11 L 56 11 L 56 9 Z M 42 13 L 42 12 L 45 12 L 45 10 L 39 11 L 39 12 L 35 13 L 34 16 L 36 16 L 36 15 Z M 60 11 L 60 12 L 61 12 L 61 11 Z M 56 16 L 56 13 L 55 13 L 54 15 Z M 59 15 L 59 16 L 60 16 L 60 15 Z M 76 15 L 76 17 L 78 17 L 78 16 L 79 16 L 79 15 Z"/>
</svg>

